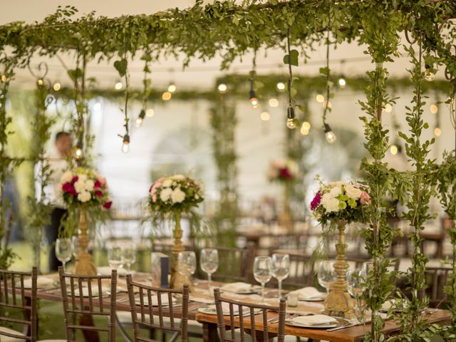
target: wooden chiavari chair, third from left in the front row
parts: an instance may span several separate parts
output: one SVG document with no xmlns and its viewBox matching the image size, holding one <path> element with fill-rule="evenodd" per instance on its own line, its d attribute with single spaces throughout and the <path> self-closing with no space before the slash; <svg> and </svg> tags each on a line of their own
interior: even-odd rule
<svg viewBox="0 0 456 342">
<path fill-rule="evenodd" d="M 145 338 L 140 336 L 140 328 L 147 328 L 149 330 L 161 330 L 166 332 L 174 331 L 175 336 L 180 335 L 180 341 L 188 341 L 188 285 L 184 285 L 182 291 L 162 289 L 136 283 L 132 280 L 131 274 L 127 274 L 127 289 L 128 298 L 130 301 L 130 312 L 131 319 L 133 322 L 133 336 L 135 342 L 155 342 L 155 340 L 152 340 L 151 338 Z M 137 302 L 135 299 L 135 292 L 139 292 L 139 313 L 137 309 Z M 152 293 L 157 295 L 157 303 L 153 303 Z M 173 295 L 182 296 L 182 314 L 180 315 L 180 317 L 177 317 L 177 315 L 175 315 L 174 312 L 175 307 L 172 302 Z M 167 308 L 164 308 L 162 304 L 162 296 L 166 296 L 167 298 Z M 155 306 L 154 308 L 154 305 L 157 306 Z M 169 313 L 166 316 L 164 314 L 165 310 L 167 311 L 167 313 Z M 169 318 L 167 318 L 168 316 Z"/>
</svg>

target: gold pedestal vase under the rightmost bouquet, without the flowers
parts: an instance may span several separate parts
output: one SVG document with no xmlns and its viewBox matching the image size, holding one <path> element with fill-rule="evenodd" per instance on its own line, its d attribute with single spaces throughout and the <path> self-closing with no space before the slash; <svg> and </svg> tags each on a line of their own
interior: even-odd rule
<svg viewBox="0 0 456 342">
<path fill-rule="evenodd" d="M 342 316 L 345 318 L 354 318 L 353 301 L 348 294 L 348 284 L 346 274 L 348 271 L 348 263 L 346 259 L 347 245 L 345 243 L 345 227 L 344 221 L 338 222 L 338 243 L 336 244 L 336 262 L 334 269 L 336 270 L 337 280 L 330 284 L 330 291 L 324 301 L 324 314 L 330 316 Z"/>
</svg>

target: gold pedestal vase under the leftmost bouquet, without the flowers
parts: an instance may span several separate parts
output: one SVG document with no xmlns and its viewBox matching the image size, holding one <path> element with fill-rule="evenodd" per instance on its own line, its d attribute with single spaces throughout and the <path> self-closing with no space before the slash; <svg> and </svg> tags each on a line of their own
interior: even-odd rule
<svg viewBox="0 0 456 342">
<path fill-rule="evenodd" d="M 87 251 L 88 243 L 86 207 L 81 207 L 78 232 L 79 253 L 76 256 L 74 274 L 81 276 L 95 276 L 97 274 L 97 269 L 92 262 L 92 256 Z"/>
</svg>

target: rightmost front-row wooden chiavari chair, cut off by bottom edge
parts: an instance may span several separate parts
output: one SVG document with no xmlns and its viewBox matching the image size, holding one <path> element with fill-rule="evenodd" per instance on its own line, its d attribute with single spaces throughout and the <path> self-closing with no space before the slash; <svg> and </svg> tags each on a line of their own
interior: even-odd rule
<svg viewBox="0 0 456 342">
<path fill-rule="evenodd" d="M 244 303 L 242 301 L 233 301 L 231 299 L 224 299 L 220 297 L 220 290 L 214 289 L 214 297 L 215 297 L 215 307 L 217 308 L 217 326 L 219 327 L 219 336 L 222 342 L 229 341 L 229 342 L 236 342 L 236 341 L 245 341 L 246 329 L 249 329 L 252 336 L 252 342 L 259 342 L 257 338 L 257 331 L 255 330 L 255 309 L 261 310 L 261 319 L 263 321 L 263 338 L 262 341 L 267 342 L 269 338 L 277 336 L 278 342 L 284 342 L 285 339 L 285 309 L 286 309 L 286 302 L 285 299 L 280 300 L 279 307 L 274 306 L 264 306 L 264 305 L 257 305 L 257 304 L 250 304 Z M 223 307 L 222 304 L 227 303 L 229 305 L 229 324 L 225 322 L 224 314 L 223 314 Z M 234 306 L 238 307 L 239 310 L 239 323 L 236 324 L 234 320 Z M 246 311 L 244 311 L 246 309 Z M 279 312 L 279 321 L 278 321 L 278 329 L 277 333 L 269 333 L 268 331 L 268 311 L 278 311 Z M 244 312 L 249 313 L 249 323 L 246 326 L 246 322 L 244 320 Z M 231 328 L 230 336 L 227 336 L 226 326 L 229 325 Z M 237 340 L 235 329 L 239 326 L 239 334 L 240 339 Z M 253 328 L 252 328 L 253 327 Z M 271 337 L 269 337 L 271 336 Z"/>
</svg>

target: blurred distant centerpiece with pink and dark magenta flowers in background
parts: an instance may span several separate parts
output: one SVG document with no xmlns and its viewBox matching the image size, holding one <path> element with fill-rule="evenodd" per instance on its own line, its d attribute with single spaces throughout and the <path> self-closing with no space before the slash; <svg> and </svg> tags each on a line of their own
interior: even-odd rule
<svg viewBox="0 0 456 342">
<path fill-rule="evenodd" d="M 291 185 L 296 178 L 296 163 L 292 160 L 271 162 L 267 177 L 270 182 L 279 182 L 284 186 L 284 205 L 279 215 L 279 224 L 287 229 L 292 229 L 293 219 L 289 201 Z"/>
</svg>

